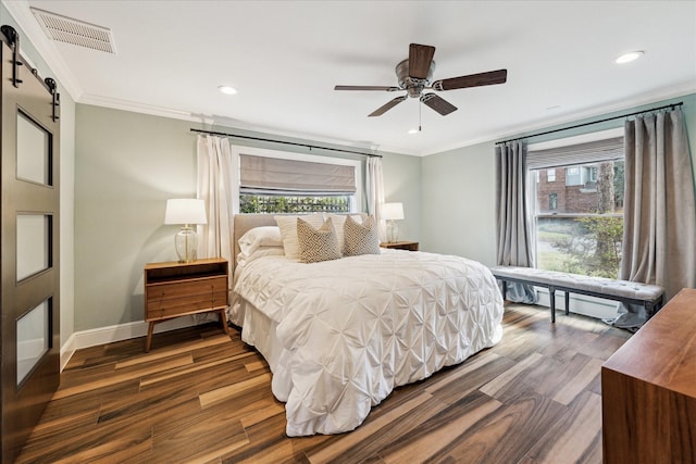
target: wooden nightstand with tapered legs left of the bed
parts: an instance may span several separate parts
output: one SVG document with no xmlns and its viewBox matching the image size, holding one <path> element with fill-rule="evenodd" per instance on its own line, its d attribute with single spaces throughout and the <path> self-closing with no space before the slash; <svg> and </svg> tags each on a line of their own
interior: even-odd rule
<svg viewBox="0 0 696 464">
<path fill-rule="evenodd" d="M 188 314 L 217 312 L 225 334 L 229 304 L 227 260 L 219 258 L 192 263 L 145 265 L 145 321 L 150 323 L 145 351 L 150 351 L 154 324 Z"/>
</svg>

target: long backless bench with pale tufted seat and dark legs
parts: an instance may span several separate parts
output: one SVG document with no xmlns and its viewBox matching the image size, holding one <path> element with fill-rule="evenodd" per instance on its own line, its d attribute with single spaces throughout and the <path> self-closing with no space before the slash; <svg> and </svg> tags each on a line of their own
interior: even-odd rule
<svg viewBox="0 0 696 464">
<path fill-rule="evenodd" d="M 647 315 L 650 317 L 662 306 L 662 294 L 664 293 L 664 289 L 657 285 L 533 267 L 496 266 L 492 267 L 490 272 L 498 280 L 502 281 L 504 298 L 508 281 L 548 288 L 552 323 L 556 322 L 556 290 L 566 292 L 566 315 L 569 314 L 570 293 L 580 293 L 623 303 L 641 304 L 645 306 Z"/>
</svg>

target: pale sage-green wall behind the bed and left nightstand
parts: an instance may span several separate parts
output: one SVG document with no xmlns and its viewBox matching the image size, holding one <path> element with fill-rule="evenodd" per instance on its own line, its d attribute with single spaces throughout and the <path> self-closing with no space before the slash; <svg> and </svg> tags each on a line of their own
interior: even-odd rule
<svg viewBox="0 0 696 464">
<path fill-rule="evenodd" d="M 144 265 L 176 259 L 177 227 L 162 224 L 166 199 L 196 196 L 196 135 L 189 128 L 198 125 L 78 104 L 76 126 L 75 330 L 139 322 Z M 386 199 L 403 202 L 402 236 L 414 240 L 421 223 L 420 163 L 395 153 L 383 159 Z"/>
</svg>

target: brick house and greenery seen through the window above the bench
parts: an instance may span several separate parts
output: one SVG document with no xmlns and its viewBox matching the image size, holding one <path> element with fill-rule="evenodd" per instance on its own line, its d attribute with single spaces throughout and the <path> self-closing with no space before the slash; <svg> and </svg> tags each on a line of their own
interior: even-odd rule
<svg viewBox="0 0 696 464">
<path fill-rule="evenodd" d="M 536 267 L 618 277 L 623 159 L 547 165 L 530 174 L 535 187 Z"/>
</svg>

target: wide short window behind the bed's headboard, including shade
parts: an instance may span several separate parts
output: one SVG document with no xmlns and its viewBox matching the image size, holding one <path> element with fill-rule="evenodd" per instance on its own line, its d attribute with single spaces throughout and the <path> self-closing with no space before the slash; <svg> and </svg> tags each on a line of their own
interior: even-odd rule
<svg viewBox="0 0 696 464">
<path fill-rule="evenodd" d="M 360 209 L 355 160 L 234 147 L 241 213 L 348 213 Z"/>
</svg>

